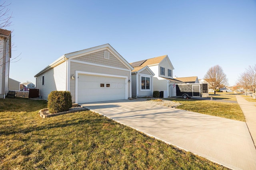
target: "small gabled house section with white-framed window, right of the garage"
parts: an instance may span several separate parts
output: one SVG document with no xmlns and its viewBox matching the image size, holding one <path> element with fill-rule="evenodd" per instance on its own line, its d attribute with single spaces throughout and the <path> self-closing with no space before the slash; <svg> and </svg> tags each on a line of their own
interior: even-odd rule
<svg viewBox="0 0 256 170">
<path fill-rule="evenodd" d="M 155 74 L 148 66 L 136 66 L 136 64 L 132 66 L 134 67 L 134 70 L 132 70 L 132 98 L 152 97 L 153 76 Z"/>
</svg>

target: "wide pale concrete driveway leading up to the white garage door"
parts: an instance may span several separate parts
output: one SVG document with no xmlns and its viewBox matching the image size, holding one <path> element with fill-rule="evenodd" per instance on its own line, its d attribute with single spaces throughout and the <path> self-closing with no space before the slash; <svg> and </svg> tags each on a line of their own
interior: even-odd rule
<svg viewBox="0 0 256 170">
<path fill-rule="evenodd" d="M 256 149 L 245 122 L 153 105 L 140 100 L 81 105 L 228 168 L 256 170 Z"/>
</svg>

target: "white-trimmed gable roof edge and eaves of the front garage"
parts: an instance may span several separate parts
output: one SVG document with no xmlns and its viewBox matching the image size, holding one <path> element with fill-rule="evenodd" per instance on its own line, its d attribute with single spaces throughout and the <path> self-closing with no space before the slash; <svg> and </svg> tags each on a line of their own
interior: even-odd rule
<svg viewBox="0 0 256 170">
<path fill-rule="evenodd" d="M 83 55 L 88 55 L 90 53 L 95 53 L 97 51 L 101 51 L 104 49 L 108 49 L 119 61 L 121 61 L 124 65 L 126 65 L 128 69 L 133 70 L 133 67 L 110 44 L 104 44 L 104 45 L 99 45 L 96 47 L 64 54 L 60 58 L 58 58 L 56 61 L 54 61 L 52 64 L 48 65 L 46 68 L 38 72 L 34 77 L 39 76 L 40 74 L 46 72 L 50 68 L 57 66 L 60 63 L 63 63 L 67 59 L 74 59 L 76 57 L 81 57 Z"/>
</svg>

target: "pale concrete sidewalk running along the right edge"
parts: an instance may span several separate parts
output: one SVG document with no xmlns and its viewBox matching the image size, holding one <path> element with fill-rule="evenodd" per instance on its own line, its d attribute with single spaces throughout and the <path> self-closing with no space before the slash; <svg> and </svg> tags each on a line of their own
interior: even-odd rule
<svg viewBox="0 0 256 170">
<path fill-rule="evenodd" d="M 255 145 L 256 144 L 256 102 L 248 102 L 241 95 L 236 95 L 236 100 L 244 113 L 246 124 L 248 126 L 248 129 L 250 131 L 250 134 L 252 136 L 252 139 Z"/>
</svg>

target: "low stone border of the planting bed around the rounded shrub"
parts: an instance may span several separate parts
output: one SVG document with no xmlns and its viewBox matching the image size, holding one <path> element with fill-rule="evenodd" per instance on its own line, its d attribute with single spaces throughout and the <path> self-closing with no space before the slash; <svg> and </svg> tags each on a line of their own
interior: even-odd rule
<svg viewBox="0 0 256 170">
<path fill-rule="evenodd" d="M 38 114 L 40 115 L 40 117 L 42 118 L 46 118 L 46 117 L 52 117 L 52 116 L 57 116 L 57 115 L 64 115 L 67 113 L 74 113 L 77 111 L 86 111 L 88 110 L 87 108 L 84 108 L 82 106 L 79 106 L 78 104 L 72 104 L 72 107 L 70 109 L 68 109 L 68 111 L 63 111 L 60 113 L 50 113 L 48 108 L 44 108 L 39 110 Z"/>
</svg>

